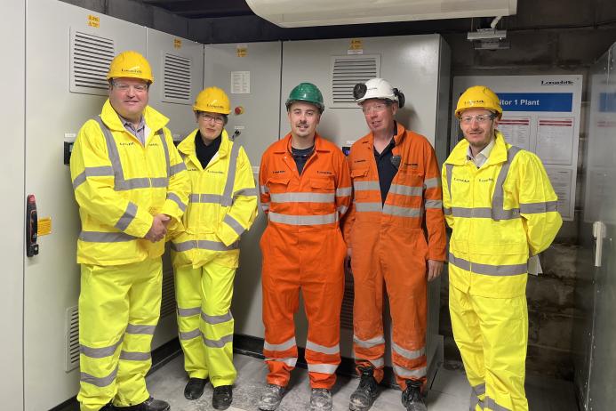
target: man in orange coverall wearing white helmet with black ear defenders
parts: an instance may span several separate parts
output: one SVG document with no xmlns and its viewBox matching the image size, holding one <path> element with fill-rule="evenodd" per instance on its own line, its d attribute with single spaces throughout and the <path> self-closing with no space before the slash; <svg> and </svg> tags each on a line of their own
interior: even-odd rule
<svg viewBox="0 0 616 411">
<path fill-rule="evenodd" d="M 402 403 L 409 411 L 424 411 L 427 288 L 428 281 L 440 275 L 445 259 L 439 168 L 428 140 L 394 120 L 404 106 L 403 93 L 386 80 L 373 78 L 356 85 L 354 97 L 370 133 L 353 144 L 348 157 L 354 201 L 345 217 L 344 234 L 348 258 L 353 257 L 353 340 L 361 376 L 349 408 L 370 408 L 383 378 L 384 283 Z"/>
</svg>

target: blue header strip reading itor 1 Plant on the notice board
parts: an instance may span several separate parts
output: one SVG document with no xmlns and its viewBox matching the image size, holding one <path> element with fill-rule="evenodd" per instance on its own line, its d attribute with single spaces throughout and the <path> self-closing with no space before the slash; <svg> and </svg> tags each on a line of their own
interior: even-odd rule
<svg viewBox="0 0 616 411">
<path fill-rule="evenodd" d="M 570 113 L 573 93 L 497 93 L 504 111 L 552 111 Z"/>
</svg>

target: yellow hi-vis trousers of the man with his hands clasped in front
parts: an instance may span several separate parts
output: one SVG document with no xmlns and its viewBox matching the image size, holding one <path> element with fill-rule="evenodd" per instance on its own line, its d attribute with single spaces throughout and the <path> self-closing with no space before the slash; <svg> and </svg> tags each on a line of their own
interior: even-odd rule
<svg viewBox="0 0 616 411">
<path fill-rule="evenodd" d="M 79 294 L 82 411 L 140 404 L 149 397 L 163 270 L 160 258 L 116 266 L 82 264 Z"/>
</svg>

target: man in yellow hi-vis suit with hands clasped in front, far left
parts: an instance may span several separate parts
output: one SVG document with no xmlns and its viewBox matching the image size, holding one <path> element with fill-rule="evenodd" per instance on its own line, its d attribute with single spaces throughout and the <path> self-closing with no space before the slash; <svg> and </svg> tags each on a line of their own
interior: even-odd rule
<svg viewBox="0 0 616 411">
<path fill-rule="evenodd" d="M 149 396 L 145 375 L 160 313 L 163 240 L 188 204 L 188 173 L 169 119 L 148 106 L 148 60 L 122 52 L 107 78 L 108 101 L 82 126 L 70 159 L 82 229 L 77 399 L 83 411 L 166 411 L 166 402 Z"/>
</svg>

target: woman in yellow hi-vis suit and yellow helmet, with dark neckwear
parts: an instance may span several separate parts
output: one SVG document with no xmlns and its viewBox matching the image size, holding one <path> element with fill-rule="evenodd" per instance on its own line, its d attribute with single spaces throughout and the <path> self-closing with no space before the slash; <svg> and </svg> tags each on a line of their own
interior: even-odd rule
<svg viewBox="0 0 616 411">
<path fill-rule="evenodd" d="M 172 232 L 180 343 L 189 376 L 184 395 L 201 397 L 209 377 L 212 406 L 226 409 L 236 380 L 229 308 L 239 238 L 256 216 L 257 191 L 244 148 L 224 130 L 227 94 L 208 87 L 193 110 L 198 128 L 178 146 L 191 181 L 188 209 L 183 227 Z"/>
</svg>

